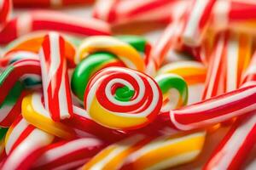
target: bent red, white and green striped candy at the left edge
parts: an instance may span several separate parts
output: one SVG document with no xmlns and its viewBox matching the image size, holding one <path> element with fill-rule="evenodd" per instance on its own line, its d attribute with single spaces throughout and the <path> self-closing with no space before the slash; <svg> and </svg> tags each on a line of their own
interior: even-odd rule
<svg viewBox="0 0 256 170">
<path fill-rule="evenodd" d="M 40 65 L 38 59 L 20 59 L 9 65 L 0 75 L 0 125 L 9 127 L 20 115 L 21 100 L 26 92 L 21 93 L 23 85 L 19 80 L 28 75 L 40 76 Z"/>
</svg>

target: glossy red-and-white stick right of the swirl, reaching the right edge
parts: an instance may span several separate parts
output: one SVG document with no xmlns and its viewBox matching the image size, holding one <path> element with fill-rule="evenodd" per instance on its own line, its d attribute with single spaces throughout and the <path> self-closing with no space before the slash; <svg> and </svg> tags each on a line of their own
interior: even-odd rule
<svg viewBox="0 0 256 170">
<path fill-rule="evenodd" d="M 256 86 L 247 86 L 212 97 L 179 110 L 163 114 L 161 119 L 180 130 L 207 127 L 255 110 Z"/>
</svg>

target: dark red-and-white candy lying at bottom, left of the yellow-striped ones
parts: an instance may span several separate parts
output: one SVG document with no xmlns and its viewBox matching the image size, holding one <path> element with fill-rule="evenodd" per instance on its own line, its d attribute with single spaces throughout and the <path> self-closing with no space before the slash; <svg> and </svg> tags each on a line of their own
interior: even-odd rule
<svg viewBox="0 0 256 170">
<path fill-rule="evenodd" d="M 71 169 L 82 166 L 92 156 L 102 150 L 105 144 L 99 139 L 74 139 L 49 144 L 37 161 L 33 169 Z"/>
</svg>

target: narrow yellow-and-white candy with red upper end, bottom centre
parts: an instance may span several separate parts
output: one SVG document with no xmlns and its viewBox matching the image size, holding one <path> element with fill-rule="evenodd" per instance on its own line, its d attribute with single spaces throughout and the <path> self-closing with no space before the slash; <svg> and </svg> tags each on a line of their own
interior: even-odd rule
<svg viewBox="0 0 256 170">
<path fill-rule="evenodd" d="M 132 151 L 142 147 L 143 144 L 148 143 L 148 141 L 150 141 L 150 138 L 145 138 L 142 134 L 136 134 L 118 143 L 110 144 L 107 148 L 90 159 L 90 161 L 85 163 L 81 169 L 119 169 L 125 161 L 125 158 L 129 156 Z"/>
</svg>

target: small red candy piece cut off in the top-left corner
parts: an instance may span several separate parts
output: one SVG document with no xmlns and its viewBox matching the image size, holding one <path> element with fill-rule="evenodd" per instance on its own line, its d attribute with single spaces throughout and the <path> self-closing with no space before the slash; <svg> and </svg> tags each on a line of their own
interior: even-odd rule
<svg viewBox="0 0 256 170">
<path fill-rule="evenodd" d="M 9 15 L 12 11 L 11 0 L 1 0 L 0 1 L 0 31 L 3 29 L 3 26 L 9 20 Z"/>
</svg>

